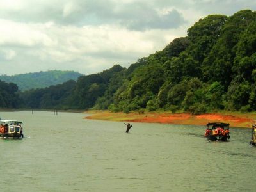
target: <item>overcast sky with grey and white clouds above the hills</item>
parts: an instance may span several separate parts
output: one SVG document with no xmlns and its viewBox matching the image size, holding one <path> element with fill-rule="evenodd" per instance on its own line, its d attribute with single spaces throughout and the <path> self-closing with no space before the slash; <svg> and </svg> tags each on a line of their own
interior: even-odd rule
<svg viewBox="0 0 256 192">
<path fill-rule="evenodd" d="M 207 15 L 252 0 L 0 0 L 0 74 L 102 72 L 161 51 Z"/>
</svg>

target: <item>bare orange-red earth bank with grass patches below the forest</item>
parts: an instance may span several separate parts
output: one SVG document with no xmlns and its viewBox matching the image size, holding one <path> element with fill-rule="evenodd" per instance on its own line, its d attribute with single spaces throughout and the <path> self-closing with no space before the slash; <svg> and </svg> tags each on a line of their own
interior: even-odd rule
<svg viewBox="0 0 256 192">
<path fill-rule="evenodd" d="M 191 115 L 190 113 L 169 113 L 169 112 L 145 112 L 131 113 L 111 111 L 84 111 L 90 114 L 84 118 L 94 120 L 108 120 L 117 122 L 143 122 L 160 124 L 184 124 L 184 125 L 206 125 L 209 122 L 225 122 L 230 127 L 251 128 L 256 113 L 239 113 L 230 111 L 221 111 L 216 113 L 205 113 L 201 115 Z"/>
</svg>

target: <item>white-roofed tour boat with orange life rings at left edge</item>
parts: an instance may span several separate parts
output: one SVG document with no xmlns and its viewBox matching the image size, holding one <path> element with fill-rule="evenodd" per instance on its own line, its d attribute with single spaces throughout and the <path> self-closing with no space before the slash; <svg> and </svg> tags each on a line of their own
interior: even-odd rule
<svg viewBox="0 0 256 192">
<path fill-rule="evenodd" d="M 23 138 L 22 122 L 17 120 L 0 120 L 1 138 Z"/>
</svg>

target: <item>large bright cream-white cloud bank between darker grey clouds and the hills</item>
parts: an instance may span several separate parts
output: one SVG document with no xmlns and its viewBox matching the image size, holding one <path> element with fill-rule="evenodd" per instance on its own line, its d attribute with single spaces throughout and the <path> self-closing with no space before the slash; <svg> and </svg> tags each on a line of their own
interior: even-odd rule
<svg viewBox="0 0 256 192">
<path fill-rule="evenodd" d="M 6 67 L 4 73 L 10 74 L 31 72 L 36 66 L 38 70 L 65 67 L 84 74 L 99 71 L 100 67 L 104 70 L 116 63 L 128 67 L 138 58 L 163 49 L 163 42 L 170 41 L 164 34 L 159 36 L 162 33 L 159 30 L 129 31 L 113 25 L 77 27 L 53 22 L 20 24 L 0 20 L 0 26 L 5 26 L 0 28 L 2 49 L 12 47 L 15 51 L 13 65 L 33 65 L 19 72 Z M 154 41 L 156 36 L 157 41 Z M 8 60 L 6 56 L 3 59 Z M 3 65 L 1 61 L 0 65 Z"/>
</svg>

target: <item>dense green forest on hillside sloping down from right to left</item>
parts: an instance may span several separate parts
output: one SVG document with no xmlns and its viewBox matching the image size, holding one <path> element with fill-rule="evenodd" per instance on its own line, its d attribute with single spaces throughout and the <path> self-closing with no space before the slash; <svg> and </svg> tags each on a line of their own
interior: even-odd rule
<svg viewBox="0 0 256 192">
<path fill-rule="evenodd" d="M 256 110 L 256 12 L 209 15 L 163 51 L 49 88 L 19 93 L 26 108 Z"/>
</svg>

